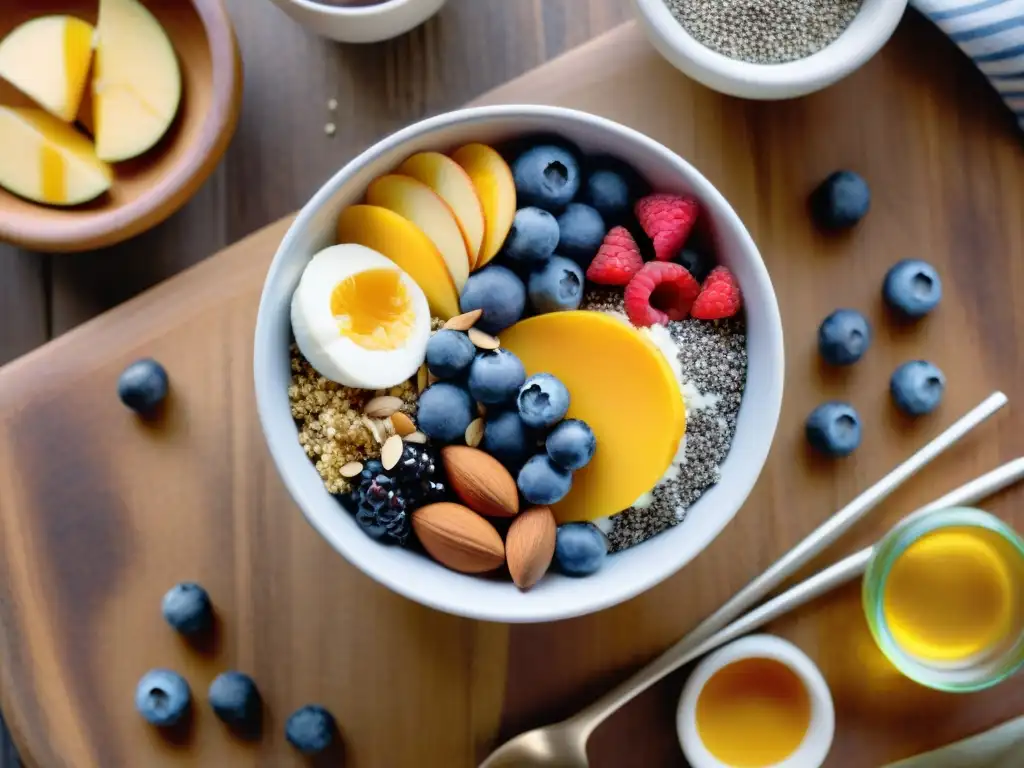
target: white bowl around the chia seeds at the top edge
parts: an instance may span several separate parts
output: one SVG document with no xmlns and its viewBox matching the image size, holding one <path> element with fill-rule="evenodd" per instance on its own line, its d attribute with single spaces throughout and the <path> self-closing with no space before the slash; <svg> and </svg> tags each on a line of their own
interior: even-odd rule
<svg viewBox="0 0 1024 768">
<path fill-rule="evenodd" d="M 878 53 L 903 17 L 906 0 L 863 0 L 834 42 L 806 58 L 758 65 L 730 58 L 697 42 L 665 0 L 633 0 L 647 37 L 669 62 L 699 83 L 742 98 L 793 98 L 825 88 Z"/>
</svg>

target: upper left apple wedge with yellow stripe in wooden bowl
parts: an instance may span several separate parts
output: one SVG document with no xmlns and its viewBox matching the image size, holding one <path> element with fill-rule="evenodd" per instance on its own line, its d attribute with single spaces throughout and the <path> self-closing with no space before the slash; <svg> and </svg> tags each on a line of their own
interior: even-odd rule
<svg viewBox="0 0 1024 768">
<path fill-rule="evenodd" d="M 92 25 L 39 16 L 0 42 L 0 77 L 63 121 L 78 115 L 92 62 Z"/>
</svg>

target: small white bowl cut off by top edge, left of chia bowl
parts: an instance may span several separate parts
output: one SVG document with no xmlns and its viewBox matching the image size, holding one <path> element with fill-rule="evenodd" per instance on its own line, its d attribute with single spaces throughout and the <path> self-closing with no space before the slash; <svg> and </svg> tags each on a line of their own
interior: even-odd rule
<svg viewBox="0 0 1024 768">
<path fill-rule="evenodd" d="M 444 0 L 383 0 L 374 5 L 327 5 L 273 0 L 306 29 L 340 43 L 378 43 L 404 35 L 440 10 Z"/>
</svg>

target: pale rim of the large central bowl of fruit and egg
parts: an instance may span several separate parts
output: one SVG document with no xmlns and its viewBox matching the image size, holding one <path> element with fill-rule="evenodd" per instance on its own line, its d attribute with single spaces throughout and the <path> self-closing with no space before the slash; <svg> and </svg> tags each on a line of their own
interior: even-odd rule
<svg viewBox="0 0 1024 768">
<path fill-rule="evenodd" d="M 759 433 L 759 439 L 752 440 L 752 444 L 745 453 L 750 465 L 755 466 L 756 471 L 745 472 L 740 478 L 730 483 L 734 494 L 735 506 L 728 514 L 717 515 L 714 522 L 709 524 L 705 541 L 699 547 L 693 547 L 685 557 L 672 560 L 665 558 L 656 566 L 645 568 L 642 571 L 634 571 L 634 575 L 629 579 L 618 580 L 614 584 L 605 585 L 605 589 L 594 596 L 593 599 L 583 603 L 578 602 L 572 605 L 558 603 L 544 606 L 538 605 L 529 609 L 515 606 L 510 609 L 508 605 L 502 604 L 474 604 L 466 605 L 464 601 L 450 599 L 446 596 L 435 595 L 428 591 L 421 591 L 418 585 L 401 580 L 387 568 L 378 567 L 372 557 L 365 557 L 355 548 L 350 547 L 346 541 L 347 537 L 338 536 L 326 524 L 322 524 L 317 516 L 310 512 L 317 506 L 316 499 L 321 498 L 323 486 L 317 483 L 309 483 L 301 480 L 294 472 L 286 472 L 285 468 L 289 464 L 289 455 L 301 454 L 301 458 L 308 461 L 304 453 L 301 453 L 298 441 L 294 445 L 286 444 L 288 441 L 272 439 L 271 432 L 273 426 L 271 421 L 273 416 L 271 411 L 274 407 L 273 393 L 268 389 L 272 378 L 270 372 L 275 367 L 276 356 L 271 354 L 265 344 L 261 344 L 261 339 L 273 334 L 272 325 L 276 322 L 271 318 L 270 303 L 271 286 L 280 280 L 280 274 L 286 269 L 285 261 L 288 253 L 295 248 L 299 232 L 303 230 L 318 215 L 319 210 L 329 204 L 330 200 L 347 183 L 348 179 L 357 174 L 366 166 L 372 164 L 377 156 L 388 154 L 399 148 L 406 142 L 418 137 L 421 134 L 445 128 L 453 125 L 462 125 L 472 122 L 492 122 L 495 120 L 516 119 L 523 117 L 550 118 L 569 122 L 583 122 L 597 127 L 604 133 L 618 137 L 623 141 L 640 144 L 648 153 L 660 155 L 668 161 L 678 164 L 685 172 L 680 171 L 680 175 L 685 175 L 687 182 L 699 189 L 696 193 L 701 199 L 714 199 L 716 206 L 721 210 L 722 215 L 728 219 L 728 226 L 736 233 L 742 243 L 743 250 L 753 253 L 757 258 L 752 265 L 756 279 L 764 289 L 764 299 L 766 311 L 770 316 L 770 328 L 767 331 L 766 345 L 770 347 L 768 359 L 774 361 L 774 370 L 766 371 L 766 376 L 762 382 L 763 391 L 759 398 L 758 411 L 767 417 L 765 424 L 767 429 Z M 328 179 L 305 206 L 299 211 L 282 239 L 263 284 L 260 296 L 259 309 L 257 312 L 255 336 L 253 342 L 253 374 L 255 379 L 255 396 L 257 416 L 263 431 L 263 436 L 270 453 L 274 468 L 284 482 L 289 495 L 295 504 L 302 511 L 306 521 L 321 535 L 322 538 L 349 563 L 358 570 L 372 578 L 379 584 L 387 587 L 392 592 L 402 595 L 414 602 L 426 605 L 437 610 L 461 615 L 479 621 L 500 622 L 508 624 L 552 622 L 562 618 L 570 618 L 579 615 L 594 613 L 605 608 L 626 602 L 627 600 L 640 595 L 652 587 L 660 584 L 669 577 L 678 572 L 683 566 L 691 562 L 698 554 L 703 552 L 722 530 L 733 520 L 742 508 L 751 490 L 764 469 L 771 449 L 775 431 L 778 426 L 779 415 L 782 407 L 782 388 L 785 373 L 782 321 L 778 308 L 778 299 L 771 284 L 767 266 L 761 258 L 760 251 L 754 243 L 753 238 L 745 225 L 739 218 L 732 206 L 725 197 L 715 187 L 707 177 L 703 176 L 685 159 L 677 153 L 665 146 L 660 142 L 649 136 L 630 128 L 621 123 L 616 123 L 607 118 L 603 118 L 591 113 L 572 110 L 562 106 L 550 106 L 539 104 L 498 104 L 488 106 L 470 106 L 456 110 L 441 115 L 414 123 L 402 128 L 380 141 L 374 143 L 351 161 L 346 163 L 330 179 Z M 745 394 L 744 394 L 745 396 Z M 380 562 L 380 560 L 378 560 Z M 442 567 L 437 565 L 437 567 Z M 509 584 L 510 589 L 514 587 Z"/>
</svg>

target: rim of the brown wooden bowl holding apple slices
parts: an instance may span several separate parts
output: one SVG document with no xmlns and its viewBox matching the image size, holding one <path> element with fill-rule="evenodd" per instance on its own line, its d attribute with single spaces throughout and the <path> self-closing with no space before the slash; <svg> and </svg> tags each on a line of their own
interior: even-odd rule
<svg viewBox="0 0 1024 768">
<path fill-rule="evenodd" d="M 0 221 L 0 241 L 51 253 L 105 248 L 161 223 L 184 206 L 206 182 L 226 152 L 238 126 L 242 110 L 242 55 L 224 0 L 189 0 L 189 3 L 203 25 L 210 49 L 211 101 L 214 105 L 207 113 L 189 152 L 153 186 L 125 205 L 84 212 L 56 224 L 40 219 L 39 223 L 26 226 L 20 223 L 22 217 Z M 175 53 L 180 58 L 177 50 Z M 10 193 L 3 190 L 3 194 Z"/>
</svg>

